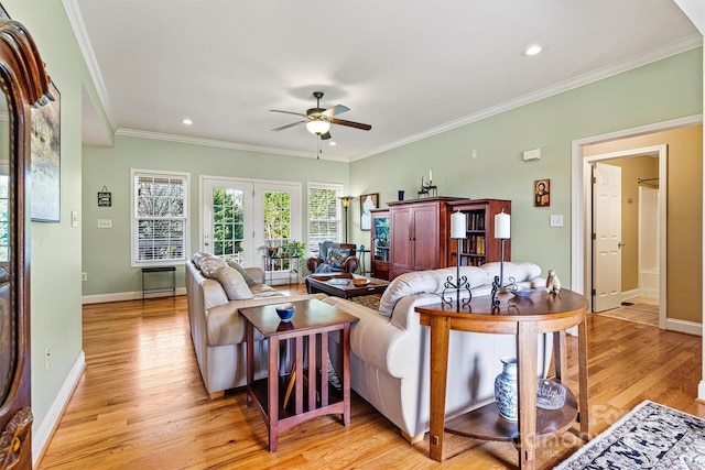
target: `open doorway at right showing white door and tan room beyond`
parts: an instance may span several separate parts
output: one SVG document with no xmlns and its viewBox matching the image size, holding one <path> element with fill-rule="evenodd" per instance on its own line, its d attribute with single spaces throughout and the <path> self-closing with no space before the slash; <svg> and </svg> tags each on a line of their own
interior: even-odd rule
<svg viewBox="0 0 705 470">
<path fill-rule="evenodd" d="M 648 325 L 660 323 L 666 152 L 665 145 L 658 145 L 590 157 L 596 176 L 593 313 Z M 611 197 L 603 197 L 606 194 Z"/>
</svg>

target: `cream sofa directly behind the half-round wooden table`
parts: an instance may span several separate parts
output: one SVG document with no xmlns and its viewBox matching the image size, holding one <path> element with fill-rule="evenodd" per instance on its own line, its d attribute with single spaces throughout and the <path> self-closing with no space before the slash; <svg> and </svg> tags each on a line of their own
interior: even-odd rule
<svg viewBox="0 0 705 470">
<path fill-rule="evenodd" d="M 506 262 L 505 281 L 514 277 L 520 286 L 545 287 L 541 269 L 532 263 Z M 394 278 L 380 299 L 379 310 L 336 297 L 324 302 L 360 321 L 350 334 L 350 384 L 410 441 L 429 430 L 429 328 L 419 324 L 417 305 L 440 302 L 438 294 L 456 267 L 405 273 Z M 473 297 L 489 295 L 499 275 L 499 263 L 480 267 L 463 266 Z M 466 295 L 467 296 L 467 295 Z M 453 291 L 455 298 L 455 291 Z M 333 339 L 334 341 L 337 338 Z M 541 335 L 538 376 L 543 376 L 551 360 L 552 341 Z M 337 348 L 330 347 L 330 351 Z M 495 378 L 501 372 L 500 358 L 514 356 L 513 335 L 451 331 L 446 416 L 452 417 L 494 400 Z M 338 369 L 338 358 L 333 358 Z M 339 370 L 339 369 L 338 369 Z"/>
</svg>

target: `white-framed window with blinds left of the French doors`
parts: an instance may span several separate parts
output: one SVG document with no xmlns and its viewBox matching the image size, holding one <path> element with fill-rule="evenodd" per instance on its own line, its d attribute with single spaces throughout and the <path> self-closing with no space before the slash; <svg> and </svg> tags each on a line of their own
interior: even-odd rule
<svg viewBox="0 0 705 470">
<path fill-rule="evenodd" d="M 188 174 L 132 170 L 132 266 L 186 260 Z"/>
</svg>

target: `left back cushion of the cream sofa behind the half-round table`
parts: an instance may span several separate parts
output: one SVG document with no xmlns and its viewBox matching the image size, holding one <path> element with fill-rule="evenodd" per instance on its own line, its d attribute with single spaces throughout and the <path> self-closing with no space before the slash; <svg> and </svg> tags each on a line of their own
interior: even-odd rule
<svg viewBox="0 0 705 470">
<path fill-rule="evenodd" d="M 379 303 L 379 313 L 390 317 L 400 298 L 414 294 L 441 294 L 444 284 L 451 276 L 455 282 L 457 267 L 443 267 L 432 271 L 414 271 L 397 276 Z M 485 270 L 477 266 L 460 266 L 460 276 L 466 276 L 470 288 L 491 283 Z"/>
</svg>

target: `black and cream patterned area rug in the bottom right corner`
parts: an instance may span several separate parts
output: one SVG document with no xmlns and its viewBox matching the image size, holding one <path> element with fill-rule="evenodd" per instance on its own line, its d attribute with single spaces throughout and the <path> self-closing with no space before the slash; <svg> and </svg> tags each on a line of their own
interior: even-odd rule
<svg viewBox="0 0 705 470">
<path fill-rule="evenodd" d="M 705 419 L 644 401 L 555 468 L 705 469 Z"/>
</svg>

